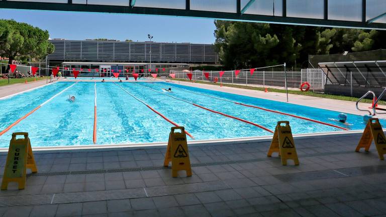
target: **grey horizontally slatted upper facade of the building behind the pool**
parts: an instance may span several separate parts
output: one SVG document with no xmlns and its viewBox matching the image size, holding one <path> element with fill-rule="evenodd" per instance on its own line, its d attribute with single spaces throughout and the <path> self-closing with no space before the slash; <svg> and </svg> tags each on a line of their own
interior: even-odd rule
<svg viewBox="0 0 386 217">
<path fill-rule="evenodd" d="M 50 40 L 48 60 L 79 62 L 218 63 L 211 44 Z"/>
</svg>

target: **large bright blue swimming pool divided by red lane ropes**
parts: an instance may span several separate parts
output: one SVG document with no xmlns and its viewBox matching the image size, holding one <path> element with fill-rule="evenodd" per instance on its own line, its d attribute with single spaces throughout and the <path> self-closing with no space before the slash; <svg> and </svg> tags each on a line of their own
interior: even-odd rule
<svg viewBox="0 0 386 217">
<path fill-rule="evenodd" d="M 162 90 L 169 87 L 172 92 Z M 67 101 L 72 95 L 76 100 Z M 0 131 L 45 103 L 0 136 L 0 147 L 8 147 L 13 132 L 29 132 L 35 147 L 93 144 L 95 102 L 98 145 L 166 142 L 173 127 L 166 119 L 184 126 L 196 140 L 271 136 L 277 121 L 289 121 L 294 134 L 343 131 L 272 111 L 347 127 L 330 120 L 339 112 L 174 83 L 60 81 L 0 99 Z M 361 116 L 347 116 L 352 124 L 347 128 L 364 129 Z"/>
</svg>

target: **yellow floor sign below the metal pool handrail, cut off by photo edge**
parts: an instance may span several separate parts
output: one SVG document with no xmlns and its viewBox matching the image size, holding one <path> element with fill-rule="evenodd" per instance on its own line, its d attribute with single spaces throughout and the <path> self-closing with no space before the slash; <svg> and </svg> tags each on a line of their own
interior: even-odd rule
<svg viewBox="0 0 386 217">
<path fill-rule="evenodd" d="M 377 118 L 368 120 L 366 128 L 363 131 L 362 137 L 355 151 L 364 148 L 365 151 L 370 149 L 372 140 L 374 140 L 376 150 L 378 151 L 379 159 L 384 160 L 383 155 L 386 154 L 386 138 L 382 130 L 382 126 Z"/>
</svg>

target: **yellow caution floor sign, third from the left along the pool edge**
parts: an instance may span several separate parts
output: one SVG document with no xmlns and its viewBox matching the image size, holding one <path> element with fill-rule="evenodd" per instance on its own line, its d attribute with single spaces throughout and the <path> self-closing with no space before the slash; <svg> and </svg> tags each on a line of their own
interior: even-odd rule
<svg viewBox="0 0 386 217">
<path fill-rule="evenodd" d="M 285 126 L 281 126 L 281 124 L 285 124 Z M 279 156 L 281 156 L 282 165 L 287 165 L 288 159 L 292 159 L 295 165 L 299 165 L 294 138 L 292 137 L 291 127 L 289 127 L 289 122 L 287 121 L 277 122 L 267 156 L 271 157 L 273 152 L 277 152 Z"/>
</svg>

